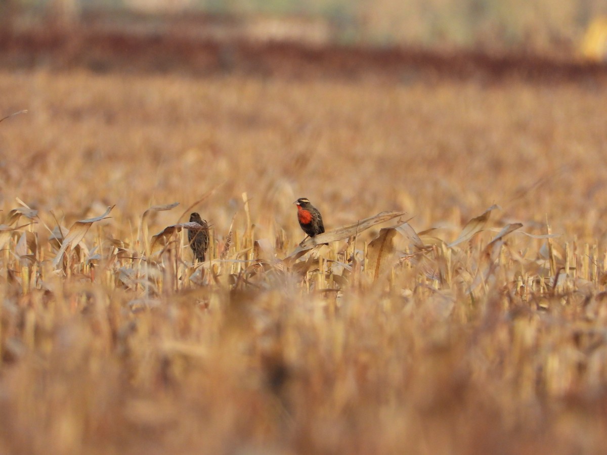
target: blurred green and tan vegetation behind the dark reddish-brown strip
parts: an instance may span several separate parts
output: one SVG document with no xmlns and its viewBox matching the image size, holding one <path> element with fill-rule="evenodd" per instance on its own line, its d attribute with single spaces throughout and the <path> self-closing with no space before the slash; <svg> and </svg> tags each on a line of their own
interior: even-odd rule
<svg viewBox="0 0 607 455">
<path fill-rule="evenodd" d="M 0 0 L 4 25 L 40 18 L 78 22 L 90 15 L 148 19 L 200 15 L 264 18 L 279 34 L 308 30 L 316 41 L 483 50 L 571 52 L 589 24 L 607 15 L 604 0 Z M 290 22 L 291 21 L 291 22 Z M 599 33 L 596 40 L 607 40 Z M 298 35 L 295 35 L 298 36 Z M 605 45 L 599 45 L 605 49 Z"/>
</svg>

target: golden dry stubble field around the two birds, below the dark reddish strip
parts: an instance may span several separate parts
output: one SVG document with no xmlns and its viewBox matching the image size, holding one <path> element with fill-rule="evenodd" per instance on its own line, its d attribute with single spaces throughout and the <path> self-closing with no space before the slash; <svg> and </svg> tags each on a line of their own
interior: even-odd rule
<svg viewBox="0 0 607 455">
<path fill-rule="evenodd" d="M 603 452 L 604 81 L 45 68 L 0 71 L 0 453 Z M 406 214 L 297 258 L 298 197 Z"/>
</svg>

